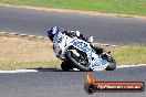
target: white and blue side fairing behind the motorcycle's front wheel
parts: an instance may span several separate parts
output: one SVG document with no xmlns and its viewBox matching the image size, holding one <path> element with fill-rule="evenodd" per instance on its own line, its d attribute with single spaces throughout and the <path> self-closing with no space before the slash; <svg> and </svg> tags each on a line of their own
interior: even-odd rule
<svg viewBox="0 0 146 97">
<path fill-rule="evenodd" d="M 82 40 L 75 39 L 71 42 L 70 45 L 73 45 L 80 51 L 83 51 L 86 53 L 87 58 L 88 58 L 88 66 L 94 69 L 105 69 L 107 67 L 107 62 L 103 58 L 101 58 L 97 54 L 92 52 L 92 48 L 90 46 L 90 43 L 86 43 Z"/>
</svg>

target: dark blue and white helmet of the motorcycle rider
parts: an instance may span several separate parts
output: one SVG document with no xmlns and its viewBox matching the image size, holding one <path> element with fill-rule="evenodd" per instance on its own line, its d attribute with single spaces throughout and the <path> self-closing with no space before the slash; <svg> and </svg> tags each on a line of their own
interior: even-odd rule
<svg viewBox="0 0 146 97">
<path fill-rule="evenodd" d="M 48 30 L 48 36 L 49 36 L 49 39 L 50 39 L 51 41 L 53 41 L 54 35 L 55 35 L 56 33 L 59 33 L 59 32 L 60 32 L 60 30 L 59 30 L 58 26 L 51 28 L 50 30 Z"/>
</svg>

